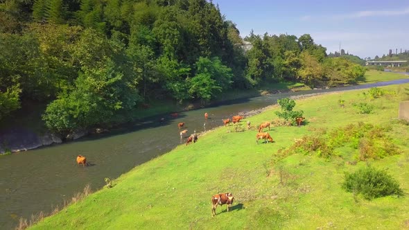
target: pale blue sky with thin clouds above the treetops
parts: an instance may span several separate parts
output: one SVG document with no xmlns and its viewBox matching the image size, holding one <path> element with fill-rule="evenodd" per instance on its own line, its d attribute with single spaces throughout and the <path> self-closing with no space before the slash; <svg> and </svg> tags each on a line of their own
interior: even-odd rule
<svg viewBox="0 0 409 230">
<path fill-rule="evenodd" d="M 308 33 L 327 53 L 349 51 L 359 57 L 381 57 L 398 48 L 409 50 L 409 0 L 213 0 L 241 37 L 250 34 L 299 37 Z"/>
</svg>

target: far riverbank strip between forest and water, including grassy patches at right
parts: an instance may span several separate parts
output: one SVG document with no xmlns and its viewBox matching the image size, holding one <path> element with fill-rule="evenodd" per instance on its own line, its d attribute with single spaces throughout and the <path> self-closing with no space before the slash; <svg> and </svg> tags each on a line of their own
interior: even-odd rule
<svg viewBox="0 0 409 230">
<path fill-rule="evenodd" d="M 387 73 L 381 71 L 369 70 L 365 74 L 365 79 L 361 79 L 358 85 L 371 84 L 374 82 L 381 82 L 385 80 L 396 80 L 401 78 L 408 78 L 408 76 L 399 73 Z M 250 89 L 246 91 L 230 91 L 216 98 L 216 100 L 209 103 L 207 106 L 216 105 L 229 100 L 252 98 L 256 96 L 267 96 L 270 94 L 281 94 L 289 91 L 304 91 L 309 90 L 301 83 L 281 82 L 277 84 L 264 85 L 259 89 Z M 78 130 L 75 134 L 66 137 L 53 134 L 46 130 L 41 119 L 42 111 L 46 105 L 39 105 L 37 107 L 30 105 L 25 106 L 25 109 L 15 112 L 11 117 L 0 123 L 0 155 L 10 154 L 11 152 L 20 152 L 40 148 L 48 145 L 58 144 L 66 141 L 80 139 L 89 134 L 110 132 L 112 127 L 97 127 L 92 130 Z M 192 109 L 201 108 L 200 103 L 185 103 L 177 104 L 171 101 L 153 101 L 141 107 L 134 119 L 135 121 L 153 116 L 168 116 L 171 112 L 181 112 Z M 161 115 L 162 114 L 162 115 Z M 126 124 L 128 126 L 130 124 Z M 132 124 L 131 124 L 132 125 Z M 119 125 L 121 127 L 121 125 Z"/>
</svg>

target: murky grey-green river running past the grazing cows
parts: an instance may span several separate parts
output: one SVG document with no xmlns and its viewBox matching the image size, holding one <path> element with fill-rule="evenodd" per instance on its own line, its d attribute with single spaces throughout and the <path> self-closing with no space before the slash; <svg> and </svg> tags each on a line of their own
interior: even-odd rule
<svg viewBox="0 0 409 230">
<path fill-rule="evenodd" d="M 3 156 L 0 158 L 0 229 L 12 229 L 20 217 L 30 218 L 40 211 L 49 213 L 87 184 L 95 191 L 105 184 L 105 177 L 119 177 L 172 150 L 182 143 L 177 123 L 186 123 L 189 134 L 193 130 L 200 133 L 223 125 L 223 118 L 275 104 L 279 98 L 408 82 L 409 79 L 393 80 L 232 100 L 205 109 L 180 112 L 178 118 L 171 118 L 168 114 L 150 117 L 109 134 Z M 207 121 L 204 121 L 204 112 L 209 114 Z M 161 117 L 165 118 L 163 123 L 159 122 Z M 77 166 L 78 154 L 85 155 L 92 166 Z"/>
</svg>

